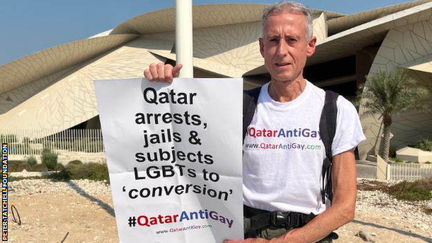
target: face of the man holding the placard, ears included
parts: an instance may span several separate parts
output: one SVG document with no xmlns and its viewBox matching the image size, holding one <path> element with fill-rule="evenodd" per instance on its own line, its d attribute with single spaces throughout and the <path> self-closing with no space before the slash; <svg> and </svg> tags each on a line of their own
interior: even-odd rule
<svg viewBox="0 0 432 243">
<path fill-rule="evenodd" d="M 315 51 L 316 37 L 307 39 L 301 13 L 273 12 L 264 25 L 260 52 L 272 81 L 303 79 L 306 58 Z"/>
</svg>

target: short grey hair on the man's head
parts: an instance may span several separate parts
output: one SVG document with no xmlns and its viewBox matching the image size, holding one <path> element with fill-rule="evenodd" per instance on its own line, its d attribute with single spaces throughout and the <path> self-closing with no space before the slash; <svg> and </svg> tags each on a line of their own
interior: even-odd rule
<svg viewBox="0 0 432 243">
<path fill-rule="evenodd" d="M 302 3 L 298 3 L 296 1 L 280 1 L 278 3 L 274 3 L 271 6 L 267 7 L 262 11 L 262 31 L 264 33 L 264 26 L 266 24 L 267 18 L 273 12 L 282 12 L 287 10 L 288 12 L 301 13 L 305 15 L 306 18 L 306 38 L 310 39 L 312 35 L 314 35 L 314 22 L 312 19 L 312 12 L 309 8 L 304 6 Z"/>
</svg>

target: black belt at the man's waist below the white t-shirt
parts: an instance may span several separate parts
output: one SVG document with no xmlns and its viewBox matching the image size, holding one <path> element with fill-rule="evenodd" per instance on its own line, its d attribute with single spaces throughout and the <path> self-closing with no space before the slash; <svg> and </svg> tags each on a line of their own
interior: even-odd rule
<svg viewBox="0 0 432 243">
<path fill-rule="evenodd" d="M 311 221 L 315 215 L 297 212 L 267 211 L 249 206 L 243 207 L 244 217 L 251 219 L 249 230 L 254 231 L 266 226 L 284 226 L 286 228 L 299 228 Z"/>
</svg>

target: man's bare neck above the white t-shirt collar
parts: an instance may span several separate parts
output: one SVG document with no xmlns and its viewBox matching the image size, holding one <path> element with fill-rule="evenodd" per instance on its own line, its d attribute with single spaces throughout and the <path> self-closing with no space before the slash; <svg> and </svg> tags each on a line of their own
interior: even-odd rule
<svg viewBox="0 0 432 243">
<path fill-rule="evenodd" d="M 300 96 L 306 88 L 306 80 L 298 78 L 294 81 L 271 81 L 269 84 L 269 96 L 278 102 L 289 102 Z"/>
</svg>

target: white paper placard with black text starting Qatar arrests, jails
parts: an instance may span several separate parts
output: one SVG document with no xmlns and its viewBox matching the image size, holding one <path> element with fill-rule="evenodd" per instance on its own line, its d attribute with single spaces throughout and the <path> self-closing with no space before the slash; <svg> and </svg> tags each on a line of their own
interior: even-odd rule
<svg viewBox="0 0 432 243">
<path fill-rule="evenodd" d="M 242 240 L 242 79 L 94 84 L 120 242 Z"/>
</svg>

